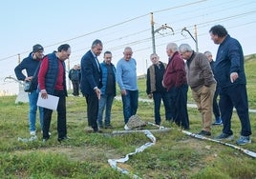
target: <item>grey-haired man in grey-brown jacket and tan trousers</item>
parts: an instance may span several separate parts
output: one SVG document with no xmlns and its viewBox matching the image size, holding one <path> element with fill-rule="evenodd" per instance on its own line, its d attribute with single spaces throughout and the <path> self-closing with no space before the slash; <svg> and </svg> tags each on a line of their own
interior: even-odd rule
<svg viewBox="0 0 256 179">
<path fill-rule="evenodd" d="M 212 100 L 216 90 L 210 64 L 203 53 L 195 52 L 188 44 L 179 47 L 181 57 L 186 60 L 187 83 L 192 90 L 192 96 L 202 113 L 203 129 L 200 135 L 211 135 Z"/>
</svg>

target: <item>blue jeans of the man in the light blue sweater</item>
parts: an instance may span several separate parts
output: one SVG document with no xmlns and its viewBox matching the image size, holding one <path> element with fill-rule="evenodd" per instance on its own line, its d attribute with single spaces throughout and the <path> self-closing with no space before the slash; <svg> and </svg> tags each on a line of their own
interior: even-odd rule
<svg viewBox="0 0 256 179">
<path fill-rule="evenodd" d="M 122 109 L 123 109 L 123 117 L 124 123 L 128 123 L 129 118 L 132 115 L 135 115 L 138 109 L 138 98 L 139 91 L 138 90 L 128 90 L 126 89 L 126 95 L 122 95 Z"/>
</svg>

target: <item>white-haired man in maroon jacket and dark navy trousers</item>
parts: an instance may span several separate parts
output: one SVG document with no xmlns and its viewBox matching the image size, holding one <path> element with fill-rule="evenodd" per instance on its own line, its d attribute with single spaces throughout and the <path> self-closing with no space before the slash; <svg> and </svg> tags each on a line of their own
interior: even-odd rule
<svg viewBox="0 0 256 179">
<path fill-rule="evenodd" d="M 162 86 L 169 92 L 173 121 L 181 128 L 189 129 L 185 64 L 179 54 L 177 44 L 169 43 L 166 53 L 169 62 L 163 75 Z"/>
</svg>

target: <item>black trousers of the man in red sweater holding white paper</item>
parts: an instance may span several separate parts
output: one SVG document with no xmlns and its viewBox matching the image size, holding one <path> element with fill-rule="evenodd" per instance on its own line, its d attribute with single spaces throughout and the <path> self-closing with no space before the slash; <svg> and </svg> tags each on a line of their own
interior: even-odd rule
<svg viewBox="0 0 256 179">
<path fill-rule="evenodd" d="M 54 90 L 54 96 L 59 97 L 57 105 L 57 132 L 58 138 L 67 136 L 67 119 L 66 119 L 66 96 L 64 90 Z M 44 126 L 43 138 L 49 139 L 49 129 L 52 121 L 52 109 L 44 109 Z"/>
</svg>

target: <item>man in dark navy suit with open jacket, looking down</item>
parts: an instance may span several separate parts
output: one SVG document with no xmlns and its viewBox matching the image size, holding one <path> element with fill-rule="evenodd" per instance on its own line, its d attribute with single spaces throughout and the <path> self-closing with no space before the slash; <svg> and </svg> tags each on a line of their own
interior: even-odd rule
<svg viewBox="0 0 256 179">
<path fill-rule="evenodd" d="M 86 98 L 88 126 L 98 132 L 96 123 L 100 88 L 102 87 L 102 73 L 97 56 L 102 51 L 102 42 L 95 40 L 91 50 L 88 50 L 81 59 L 81 92 Z"/>
</svg>

